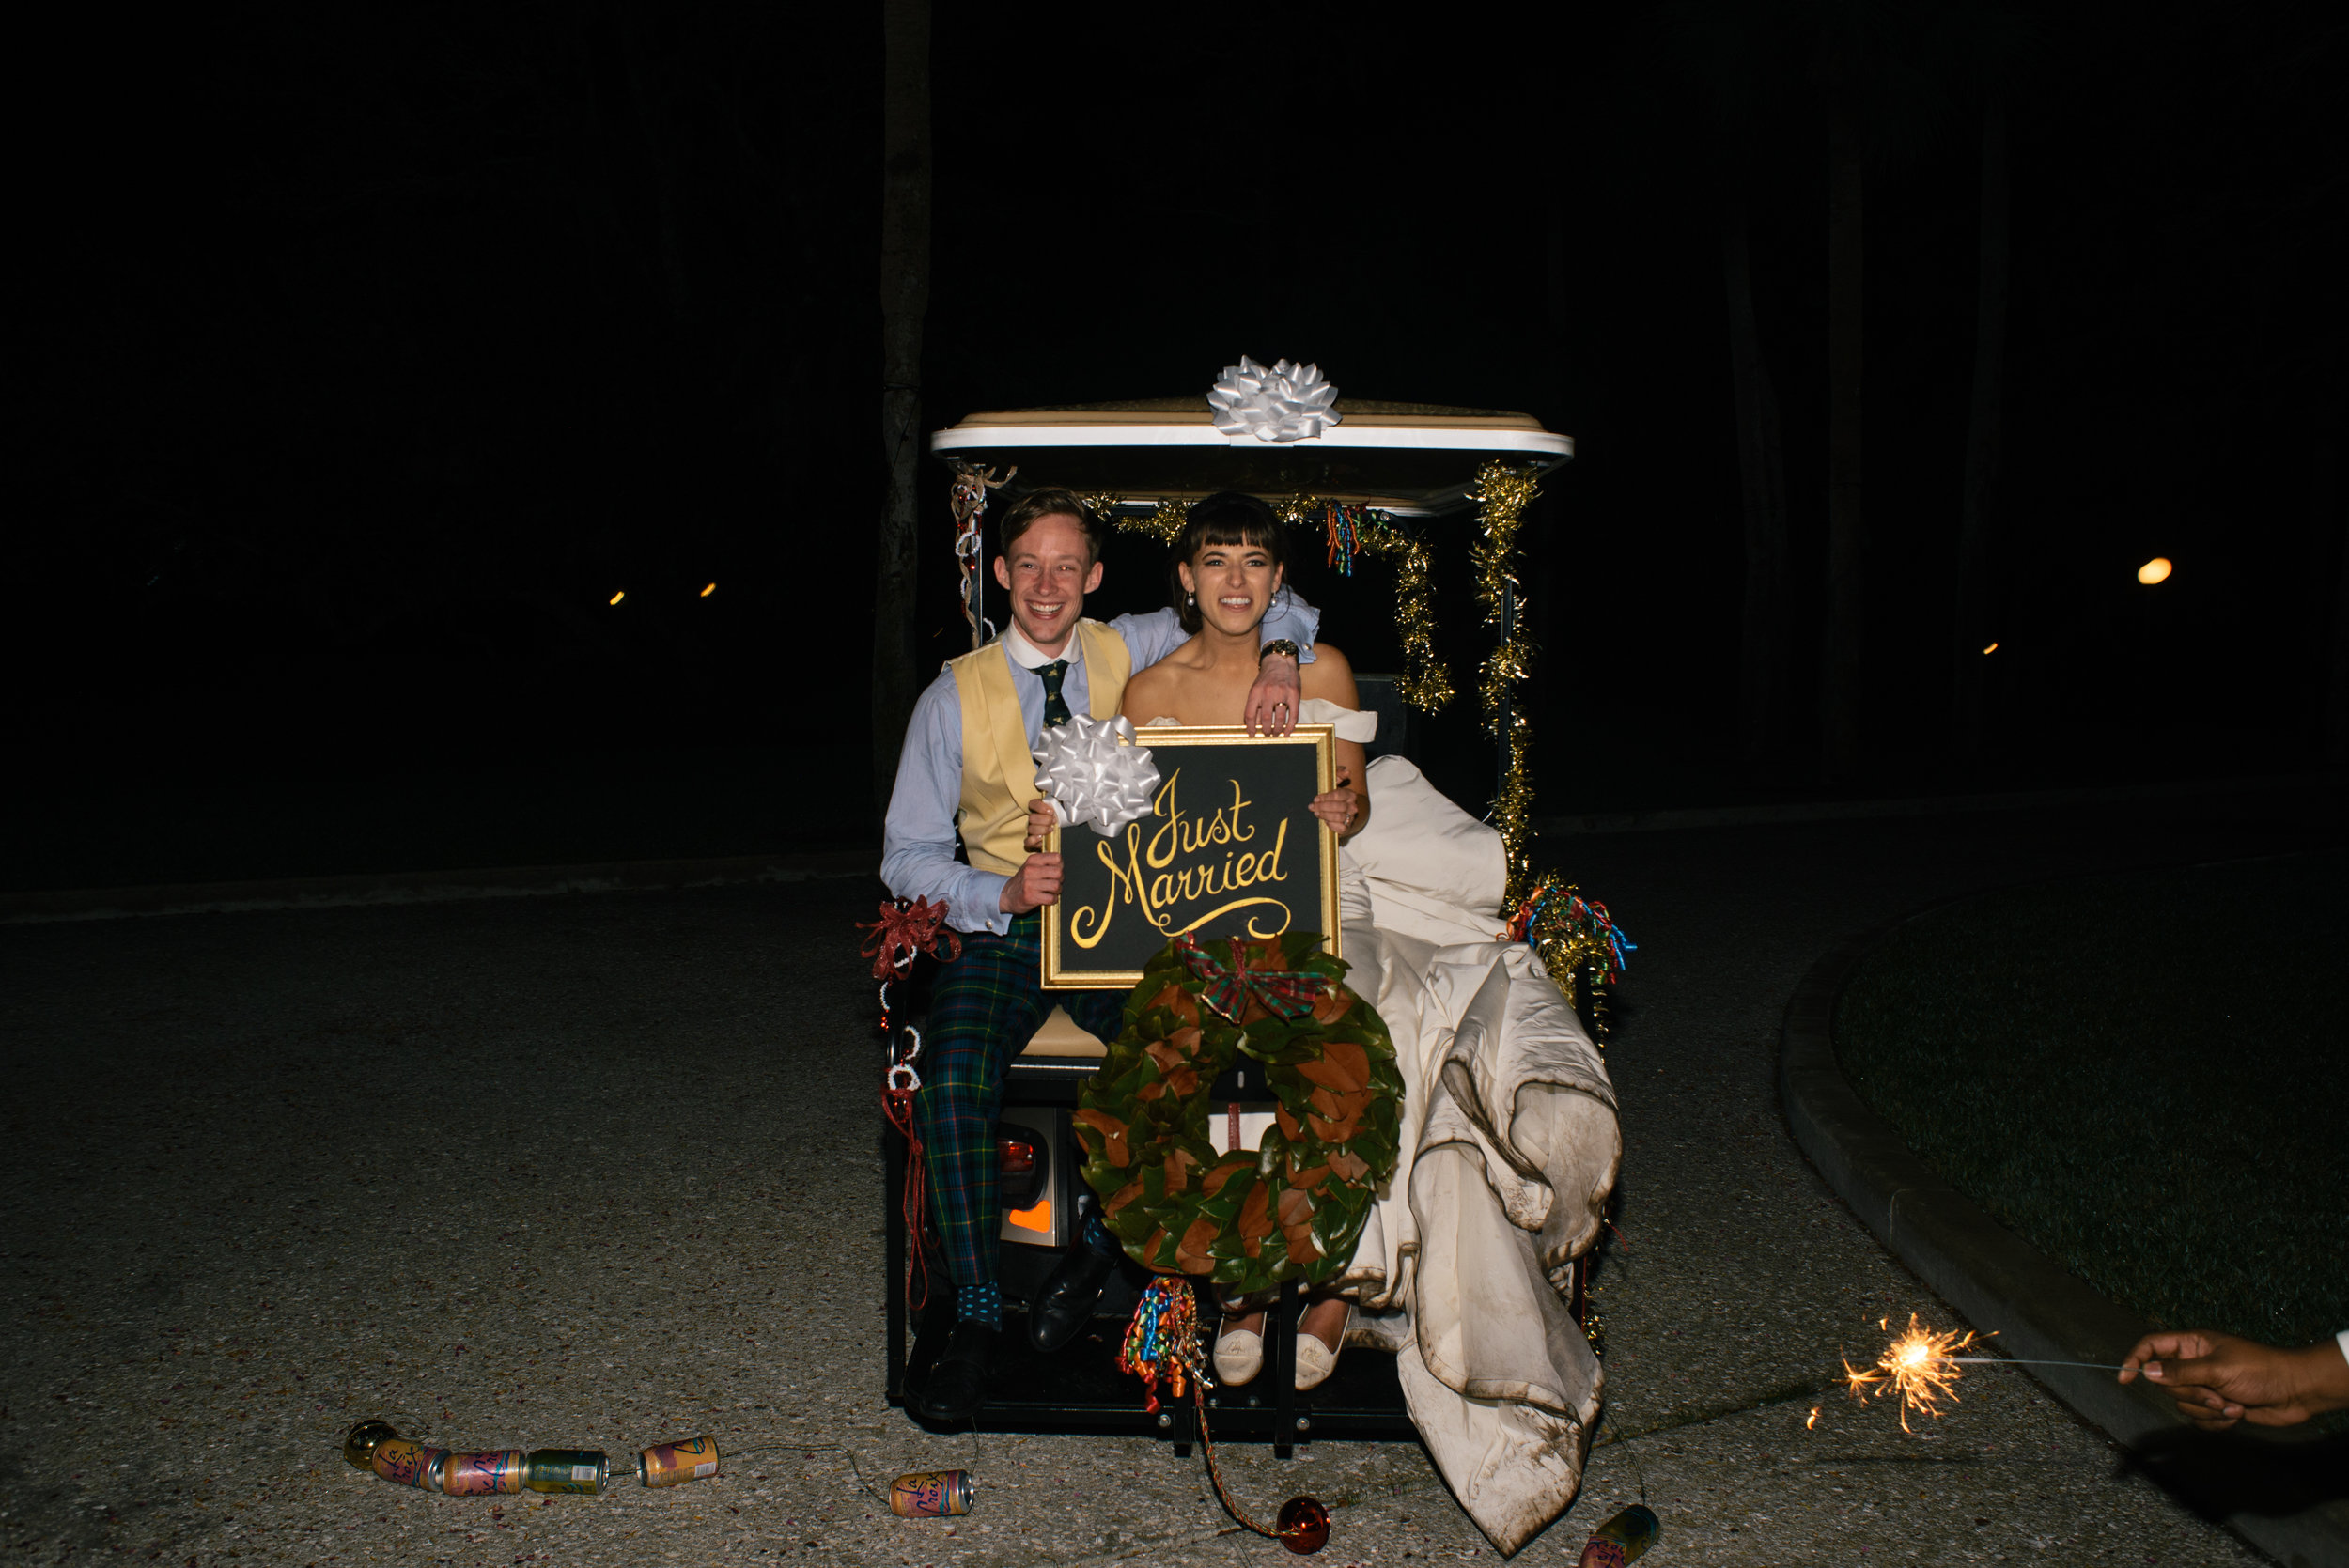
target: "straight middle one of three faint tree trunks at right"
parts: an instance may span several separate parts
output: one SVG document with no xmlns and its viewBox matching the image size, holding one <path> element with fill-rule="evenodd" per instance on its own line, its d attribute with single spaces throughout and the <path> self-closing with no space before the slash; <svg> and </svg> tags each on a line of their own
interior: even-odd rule
<svg viewBox="0 0 2349 1568">
<path fill-rule="evenodd" d="M 1860 261 L 1865 174 L 1858 70 L 1837 73 L 1828 103 L 1828 636 L 1818 667 L 1823 770 L 1851 777 L 1860 761 L 1860 613 L 1865 514 L 1860 507 Z"/>
</svg>

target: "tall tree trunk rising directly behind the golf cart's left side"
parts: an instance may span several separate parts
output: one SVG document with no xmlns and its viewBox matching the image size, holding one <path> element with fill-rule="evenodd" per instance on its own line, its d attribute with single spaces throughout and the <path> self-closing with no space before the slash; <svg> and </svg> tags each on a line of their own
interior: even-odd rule
<svg viewBox="0 0 2349 1568">
<path fill-rule="evenodd" d="M 886 0 L 881 94 L 881 458 L 874 561 L 874 805 L 888 807 L 914 714 L 921 317 L 930 307 L 930 0 Z"/>
</svg>

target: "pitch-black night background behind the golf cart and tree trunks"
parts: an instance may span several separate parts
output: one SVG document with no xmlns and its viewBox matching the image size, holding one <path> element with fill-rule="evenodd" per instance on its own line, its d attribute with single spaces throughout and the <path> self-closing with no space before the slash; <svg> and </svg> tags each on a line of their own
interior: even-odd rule
<svg viewBox="0 0 2349 1568">
<path fill-rule="evenodd" d="M 1820 38 L 1851 16 L 1846 786 L 2314 765 L 2349 636 L 2335 5 L 940 7 L 923 425 L 1196 397 L 1243 352 L 1348 397 L 1529 411 L 1579 441 L 1525 568 L 1541 807 L 1804 786 Z M 876 9 L 110 12 L 14 56 L 19 786 L 867 751 Z M 1992 92 L 2013 305 L 1976 772 L 1950 753 L 1950 573 Z M 1802 723 L 1759 779 L 1736 758 L 1734 181 L 1795 549 Z M 944 657 L 944 469 L 926 484 L 916 638 Z M 1473 690 L 1447 528 L 1440 648 Z M 2178 573 L 2145 589 L 2156 554 Z M 1367 669 L 1395 664 L 1384 570 L 1299 577 Z M 1156 592 L 1120 547 L 1097 608 Z M 1466 707 L 1452 725 L 1473 742 Z"/>
</svg>

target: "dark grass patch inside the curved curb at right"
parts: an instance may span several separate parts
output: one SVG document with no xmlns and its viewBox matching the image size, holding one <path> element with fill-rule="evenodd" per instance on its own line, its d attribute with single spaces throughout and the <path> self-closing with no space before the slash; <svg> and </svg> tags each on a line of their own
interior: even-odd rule
<svg viewBox="0 0 2349 1568">
<path fill-rule="evenodd" d="M 2170 1329 L 2349 1329 L 2349 857 L 2093 878 L 1914 920 L 1835 1016 L 1924 1160 Z"/>
</svg>

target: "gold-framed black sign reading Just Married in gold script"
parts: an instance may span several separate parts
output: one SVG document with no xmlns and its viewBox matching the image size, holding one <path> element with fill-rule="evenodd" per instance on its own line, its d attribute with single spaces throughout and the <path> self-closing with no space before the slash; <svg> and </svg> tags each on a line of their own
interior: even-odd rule
<svg viewBox="0 0 2349 1568">
<path fill-rule="evenodd" d="M 1334 786 L 1330 725 L 1250 735 L 1240 725 L 1156 728 L 1151 815 L 1102 838 L 1059 829 L 1059 901 L 1043 911 L 1050 991 L 1128 988 L 1158 948 L 1196 932 L 1322 932 L 1339 953 L 1337 833 L 1311 812 Z"/>
</svg>

